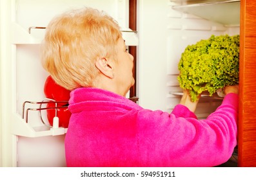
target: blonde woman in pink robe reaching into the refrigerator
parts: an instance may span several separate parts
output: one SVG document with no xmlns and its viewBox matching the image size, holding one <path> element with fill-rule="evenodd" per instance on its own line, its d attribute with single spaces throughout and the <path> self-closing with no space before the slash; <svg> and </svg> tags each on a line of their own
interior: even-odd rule
<svg viewBox="0 0 256 180">
<path fill-rule="evenodd" d="M 55 17 L 43 43 L 43 66 L 72 90 L 65 138 L 68 167 L 213 167 L 237 144 L 238 86 L 206 120 L 184 91 L 171 114 L 124 96 L 134 84 L 133 57 L 117 23 L 91 8 Z"/>
</svg>

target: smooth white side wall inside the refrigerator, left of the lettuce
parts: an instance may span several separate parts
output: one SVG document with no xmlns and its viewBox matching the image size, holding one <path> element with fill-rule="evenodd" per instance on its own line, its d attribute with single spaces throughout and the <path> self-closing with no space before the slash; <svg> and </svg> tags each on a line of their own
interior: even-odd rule
<svg viewBox="0 0 256 180">
<path fill-rule="evenodd" d="M 166 37 L 169 7 L 166 1 L 140 0 L 137 13 L 139 31 L 139 105 L 166 109 Z"/>
</svg>

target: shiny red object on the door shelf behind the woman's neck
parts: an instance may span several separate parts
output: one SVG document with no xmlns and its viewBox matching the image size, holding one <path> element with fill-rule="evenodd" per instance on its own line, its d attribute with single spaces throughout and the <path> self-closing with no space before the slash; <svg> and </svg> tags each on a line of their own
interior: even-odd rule
<svg viewBox="0 0 256 180">
<path fill-rule="evenodd" d="M 61 85 L 56 84 L 52 76 L 48 76 L 46 81 L 44 82 L 44 95 L 46 98 L 54 100 L 59 103 L 48 103 L 46 107 L 61 107 L 57 109 L 47 109 L 47 118 L 50 125 L 53 125 L 54 117 L 59 118 L 59 127 L 68 127 L 68 123 L 70 120 L 71 113 L 68 110 L 68 102 L 60 102 L 60 101 L 68 101 L 70 99 L 70 91 L 65 89 Z"/>
</svg>

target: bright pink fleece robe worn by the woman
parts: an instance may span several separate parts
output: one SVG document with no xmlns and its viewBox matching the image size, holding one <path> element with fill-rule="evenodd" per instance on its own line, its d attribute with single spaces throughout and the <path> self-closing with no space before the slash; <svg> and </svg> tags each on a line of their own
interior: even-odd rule
<svg viewBox="0 0 256 180">
<path fill-rule="evenodd" d="M 184 105 L 143 109 L 96 88 L 72 91 L 65 138 L 68 167 L 213 167 L 237 145 L 238 96 L 228 94 L 206 120 Z"/>
</svg>

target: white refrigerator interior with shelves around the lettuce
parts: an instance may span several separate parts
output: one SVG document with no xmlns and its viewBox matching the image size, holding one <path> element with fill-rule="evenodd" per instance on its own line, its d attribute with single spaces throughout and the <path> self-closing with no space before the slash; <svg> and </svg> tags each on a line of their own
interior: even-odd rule
<svg viewBox="0 0 256 180">
<path fill-rule="evenodd" d="M 215 14 L 233 11 L 233 7 L 226 4 L 224 9 L 219 6 L 214 9 L 215 1 L 210 2 L 213 3 L 208 6 L 196 6 L 196 11 L 201 14 L 207 14 L 212 8 Z M 186 0 L 139 1 L 137 83 L 140 105 L 153 110 L 172 111 L 181 98 L 175 93 L 182 92 L 177 81 L 181 53 L 189 44 L 208 39 L 211 35 L 239 34 L 240 6 L 239 2 L 236 3 L 235 21 L 232 19 L 222 24 L 186 13 L 182 11 L 184 8 L 176 8 L 186 4 Z M 214 98 L 201 98 L 196 111 L 198 118 L 206 118 L 220 103 L 221 100 Z"/>
</svg>

